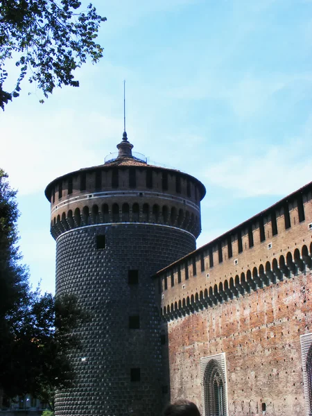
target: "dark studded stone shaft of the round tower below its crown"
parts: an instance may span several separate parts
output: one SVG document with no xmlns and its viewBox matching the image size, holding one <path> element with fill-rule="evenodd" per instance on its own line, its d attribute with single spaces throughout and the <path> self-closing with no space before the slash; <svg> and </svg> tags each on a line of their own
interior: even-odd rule
<svg viewBox="0 0 312 416">
<path fill-rule="evenodd" d="M 105 249 L 96 236 L 105 234 Z M 55 415 L 150 415 L 162 409 L 159 311 L 151 275 L 195 249 L 194 237 L 161 225 L 118 224 L 73 229 L 57 241 L 56 292 L 74 293 L 91 318 L 79 329 L 71 360 L 76 387 L 59 392 Z M 139 284 L 128 284 L 139 270 Z M 139 315 L 140 329 L 129 329 Z M 130 369 L 141 381 L 130 381 Z"/>
</svg>

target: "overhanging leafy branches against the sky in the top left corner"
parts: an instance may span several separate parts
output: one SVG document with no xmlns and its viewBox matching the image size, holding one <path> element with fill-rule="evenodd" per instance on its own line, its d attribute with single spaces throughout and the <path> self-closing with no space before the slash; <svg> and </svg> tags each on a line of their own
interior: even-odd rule
<svg viewBox="0 0 312 416">
<path fill-rule="evenodd" d="M 19 96 L 21 81 L 30 73 L 45 97 L 55 86 L 78 87 L 73 71 L 103 56 L 96 44 L 98 28 L 106 17 L 89 4 L 78 12 L 78 0 L 0 0 L 0 107 Z M 15 58 L 19 76 L 12 92 L 3 90 L 8 77 L 5 62 Z"/>
</svg>

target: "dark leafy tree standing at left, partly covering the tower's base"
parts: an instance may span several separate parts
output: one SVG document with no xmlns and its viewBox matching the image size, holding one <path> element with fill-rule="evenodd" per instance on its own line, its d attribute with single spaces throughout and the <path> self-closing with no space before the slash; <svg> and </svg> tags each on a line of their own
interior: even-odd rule
<svg viewBox="0 0 312 416">
<path fill-rule="evenodd" d="M 79 347 L 73 331 L 85 315 L 73 295 L 29 288 L 17 247 L 16 192 L 7 178 L 0 170 L 0 390 L 7 398 L 30 393 L 53 409 L 55 389 L 73 383 L 67 357 Z"/>
</svg>

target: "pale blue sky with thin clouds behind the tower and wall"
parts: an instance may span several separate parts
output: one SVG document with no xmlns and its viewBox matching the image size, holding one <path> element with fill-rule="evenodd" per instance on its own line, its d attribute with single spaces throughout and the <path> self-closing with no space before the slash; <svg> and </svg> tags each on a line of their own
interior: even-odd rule
<svg viewBox="0 0 312 416">
<path fill-rule="evenodd" d="M 311 0 L 93 3 L 107 17 L 101 62 L 43 105 L 25 83 L 0 114 L 0 166 L 19 190 L 20 247 L 42 291 L 55 281 L 44 188 L 116 151 L 124 79 L 134 150 L 207 188 L 198 247 L 312 180 Z"/>
</svg>

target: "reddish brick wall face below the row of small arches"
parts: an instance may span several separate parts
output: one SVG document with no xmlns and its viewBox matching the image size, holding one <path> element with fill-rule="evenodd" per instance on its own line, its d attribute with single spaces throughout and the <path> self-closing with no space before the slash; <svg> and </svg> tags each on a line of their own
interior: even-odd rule
<svg viewBox="0 0 312 416">
<path fill-rule="evenodd" d="M 164 324 L 171 400 L 187 397 L 203 414 L 200 358 L 225 352 L 229 415 L 303 416 L 300 335 L 312 329 L 312 275 L 301 273 Z"/>
</svg>

